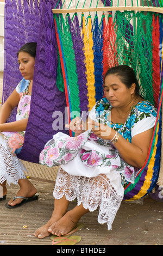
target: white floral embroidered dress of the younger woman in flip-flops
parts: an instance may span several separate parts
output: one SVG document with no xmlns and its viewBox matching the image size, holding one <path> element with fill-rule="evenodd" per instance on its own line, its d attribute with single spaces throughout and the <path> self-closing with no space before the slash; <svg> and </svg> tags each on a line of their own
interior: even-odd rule
<svg viewBox="0 0 163 256">
<path fill-rule="evenodd" d="M 16 120 L 29 117 L 31 93 L 28 93 L 30 81 L 23 80 L 17 85 L 16 91 L 20 94 Z M 7 180 L 8 184 L 17 184 L 18 179 L 25 179 L 22 162 L 16 154 L 20 153 L 24 143 L 25 132 L 0 133 L 0 183 Z"/>
</svg>

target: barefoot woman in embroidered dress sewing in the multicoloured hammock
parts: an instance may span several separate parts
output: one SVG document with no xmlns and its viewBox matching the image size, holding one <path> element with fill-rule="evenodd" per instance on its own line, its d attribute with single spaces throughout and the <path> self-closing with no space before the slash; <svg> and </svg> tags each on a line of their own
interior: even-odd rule
<svg viewBox="0 0 163 256">
<path fill-rule="evenodd" d="M 76 137 L 59 132 L 45 145 L 41 164 L 59 165 L 54 189 L 54 211 L 35 231 L 43 238 L 67 234 L 80 218 L 99 206 L 99 223 L 111 229 L 124 196 L 146 161 L 156 120 L 155 108 L 139 95 L 135 73 L 127 65 L 106 72 L 105 97 L 91 109 L 86 127 L 74 118 Z M 77 136 L 78 135 L 78 136 Z M 70 201 L 77 206 L 67 211 Z"/>
</svg>

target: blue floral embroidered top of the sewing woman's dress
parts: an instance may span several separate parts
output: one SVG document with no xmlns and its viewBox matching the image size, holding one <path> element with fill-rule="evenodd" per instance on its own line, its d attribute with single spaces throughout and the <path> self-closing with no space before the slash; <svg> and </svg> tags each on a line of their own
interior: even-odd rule
<svg viewBox="0 0 163 256">
<path fill-rule="evenodd" d="M 134 135 L 136 133 L 141 133 L 152 128 L 155 124 L 156 109 L 149 101 L 138 102 L 131 110 L 131 113 L 128 115 L 128 118 L 124 124 L 114 124 L 108 120 L 111 108 L 112 106 L 106 98 L 99 100 L 95 105 L 94 117 L 96 121 L 98 121 L 98 123 L 107 124 L 112 129 L 118 131 L 123 136 L 123 138 L 129 142 L 131 142 L 131 137 L 133 137 L 131 136 L 131 132 L 135 129 L 135 127 L 137 128 L 137 132 L 135 132 Z M 149 121 L 151 121 L 151 126 L 148 123 Z M 141 130 L 142 126 L 143 130 Z"/>
</svg>

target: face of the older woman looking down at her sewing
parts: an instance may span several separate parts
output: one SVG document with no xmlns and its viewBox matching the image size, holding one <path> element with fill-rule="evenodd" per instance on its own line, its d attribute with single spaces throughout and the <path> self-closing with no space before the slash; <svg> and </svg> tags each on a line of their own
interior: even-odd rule
<svg viewBox="0 0 163 256">
<path fill-rule="evenodd" d="M 129 104 L 134 94 L 135 84 L 131 88 L 121 82 L 119 76 L 108 75 L 104 81 L 105 95 L 112 107 L 125 107 Z"/>
</svg>

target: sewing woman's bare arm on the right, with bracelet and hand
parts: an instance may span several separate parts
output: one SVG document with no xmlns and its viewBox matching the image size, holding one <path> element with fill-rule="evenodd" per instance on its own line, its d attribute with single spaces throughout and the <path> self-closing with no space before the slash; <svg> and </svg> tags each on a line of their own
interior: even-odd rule
<svg viewBox="0 0 163 256">
<path fill-rule="evenodd" d="M 92 131 L 94 131 L 95 135 L 102 139 L 111 140 L 116 134 L 116 131 L 111 129 L 108 125 L 99 125 L 92 121 L 92 127 Z M 131 143 L 120 135 L 118 141 L 115 143 L 115 147 L 124 161 L 137 168 L 141 168 L 143 164 L 145 164 L 149 146 L 151 144 L 153 129 L 154 128 L 135 135 L 132 138 Z"/>
</svg>

